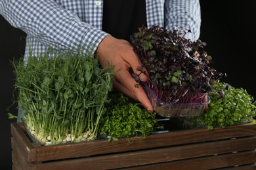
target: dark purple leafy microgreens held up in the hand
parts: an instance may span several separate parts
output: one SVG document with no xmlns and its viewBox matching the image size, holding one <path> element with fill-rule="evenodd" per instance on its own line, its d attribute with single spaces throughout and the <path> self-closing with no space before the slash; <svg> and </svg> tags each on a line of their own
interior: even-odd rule
<svg viewBox="0 0 256 170">
<path fill-rule="evenodd" d="M 209 67 L 213 59 L 203 48 L 205 42 L 185 38 L 190 32 L 156 25 L 140 27 L 131 35 L 131 44 L 149 73 L 150 80 L 142 85 L 165 103 L 201 103 L 211 84 L 225 76 Z"/>
</svg>

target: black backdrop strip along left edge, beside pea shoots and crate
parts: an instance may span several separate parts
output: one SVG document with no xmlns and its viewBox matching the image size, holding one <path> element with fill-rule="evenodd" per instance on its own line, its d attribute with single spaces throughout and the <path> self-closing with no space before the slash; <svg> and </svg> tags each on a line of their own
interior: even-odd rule
<svg viewBox="0 0 256 170">
<path fill-rule="evenodd" d="M 12 27 L 0 16 L 0 169 L 11 169 L 11 122 L 7 112 L 17 114 L 16 104 L 12 105 L 12 93 L 14 84 L 14 73 L 11 60 L 20 58 L 24 54 L 25 34 Z M 12 106 L 11 106 L 12 105 Z M 10 107 L 10 108 L 9 108 Z M 8 109 L 9 108 L 9 109 Z M 8 110 L 7 110 L 8 109 Z"/>
</svg>

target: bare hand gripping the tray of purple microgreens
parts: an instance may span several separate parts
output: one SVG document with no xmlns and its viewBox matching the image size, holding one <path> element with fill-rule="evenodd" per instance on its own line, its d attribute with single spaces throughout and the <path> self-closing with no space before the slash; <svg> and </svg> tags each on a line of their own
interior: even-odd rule
<svg viewBox="0 0 256 170">
<path fill-rule="evenodd" d="M 143 88 L 135 87 L 135 79 L 131 76 L 129 69 L 139 75 L 140 81 L 146 82 L 148 80 L 144 73 L 137 71 L 137 67 L 141 67 L 140 60 L 133 51 L 133 47 L 128 41 L 116 39 L 111 35 L 107 35 L 102 42 L 100 42 L 96 50 L 96 58 L 102 65 L 114 65 L 114 71 L 117 72 L 114 81 L 114 88 L 129 97 L 139 101 L 150 112 L 153 112 L 153 107 L 144 92 Z"/>
</svg>

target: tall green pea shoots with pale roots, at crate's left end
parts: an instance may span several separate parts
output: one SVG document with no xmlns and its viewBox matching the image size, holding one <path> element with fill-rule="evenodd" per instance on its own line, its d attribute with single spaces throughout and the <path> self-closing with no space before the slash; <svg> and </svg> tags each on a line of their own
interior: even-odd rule
<svg viewBox="0 0 256 170">
<path fill-rule="evenodd" d="M 26 67 L 13 61 L 18 105 L 26 127 L 42 144 L 96 139 L 114 73 L 93 54 L 51 52 L 30 55 Z M 12 115 L 10 115 L 12 117 Z"/>
</svg>

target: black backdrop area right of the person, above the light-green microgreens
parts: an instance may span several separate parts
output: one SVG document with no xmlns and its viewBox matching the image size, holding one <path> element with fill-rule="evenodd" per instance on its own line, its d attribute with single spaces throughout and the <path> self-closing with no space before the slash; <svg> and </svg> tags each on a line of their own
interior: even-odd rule
<svg viewBox="0 0 256 170">
<path fill-rule="evenodd" d="M 256 1 L 201 1 L 202 41 L 224 81 L 256 97 Z"/>
</svg>

